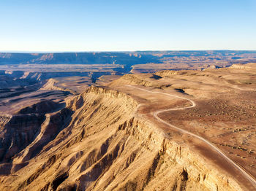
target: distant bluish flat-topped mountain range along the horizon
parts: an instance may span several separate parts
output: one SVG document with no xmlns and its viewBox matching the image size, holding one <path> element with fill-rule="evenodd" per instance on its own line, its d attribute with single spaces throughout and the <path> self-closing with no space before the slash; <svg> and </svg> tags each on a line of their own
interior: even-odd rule
<svg viewBox="0 0 256 191">
<path fill-rule="evenodd" d="M 0 52 L 0 64 L 105 64 L 135 65 L 163 63 L 167 58 L 211 57 L 219 59 L 256 59 L 256 51 L 137 51 L 137 52 L 57 52 L 11 53 Z"/>
</svg>

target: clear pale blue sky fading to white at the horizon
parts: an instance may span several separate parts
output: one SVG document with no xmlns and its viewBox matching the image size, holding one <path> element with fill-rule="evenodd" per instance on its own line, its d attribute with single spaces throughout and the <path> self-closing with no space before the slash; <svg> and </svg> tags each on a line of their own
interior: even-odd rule
<svg viewBox="0 0 256 191">
<path fill-rule="evenodd" d="M 256 0 L 1 0 L 0 51 L 256 50 Z"/>
</svg>

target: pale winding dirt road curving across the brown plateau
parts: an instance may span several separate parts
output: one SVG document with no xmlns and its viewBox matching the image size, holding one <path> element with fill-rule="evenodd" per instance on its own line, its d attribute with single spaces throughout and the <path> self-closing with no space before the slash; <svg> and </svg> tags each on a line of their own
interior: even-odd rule
<svg viewBox="0 0 256 191">
<path fill-rule="evenodd" d="M 170 124 L 169 122 L 166 122 L 165 120 L 162 120 L 158 114 L 159 113 L 162 113 L 162 112 L 169 112 L 169 111 L 176 111 L 176 110 L 181 110 L 181 109 L 189 109 L 189 108 L 192 108 L 192 107 L 195 107 L 196 104 L 195 104 L 195 101 L 192 101 L 191 99 L 189 98 L 183 98 L 181 96 L 178 96 L 178 95 L 172 95 L 170 93 L 160 93 L 160 92 L 154 92 L 154 91 L 150 91 L 150 90 L 145 90 L 143 88 L 140 88 L 140 87 L 135 87 L 135 86 L 132 86 L 132 85 L 127 85 L 128 87 L 132 87 L 132 88 L 135 88 L 135 89 L 138 89 L 138 90 L 143 90 L 143 91 L 146 91 L 148 93 L 157 93 L 157 94 L 162 94 L 162 95 L 167 95 L 167 96 L 170 96 L 170 97 L 174 97 L 174 98 L 180 98 L 180 99 L 183 99 L 183 100 L 187 100 L 189 101 L 192 105 L 191 106 L 186 106 L 186 107 L 180 107 L 180 108 L 174 108 L 174 109 L 162 109 L 162 110 L 158 110 L 156 112 L 154 112 L 154 117 L 159 120 L 160 122 L 164 123 L 165 125 L 169 126 L 170 128 L 174 128 L 176 130 L 179 130 L 180 132 L 182 133 L 187 133 L 189 136 L 193 136 L 197 139 L 200 139 L 201 141 L 205 142 L 206 144 L 208 144 L 210 147 L 212 147 L 216 152 L 219 153 L 219 155 L 221 155 L 222 157 L 225 158 L 225 160 L 227 160 L 228 163 L 231 163 L 234 167 L 236 167 L 239 171 L 241 171 L 241 174 L 244 175 L 244 177 L 246 177 L 246 179 L 249 180 L 249 182 L 252 183 L 252 185 L 255 187 L 256 189 L 256 180 L 255 178 L 248 174 L 243 168 L 241 168 L 238 164 L 236 164 L 233 160 L 231 160 L 229 157 L 227 157 L 227 155 L 225 155 L 224 152 L 222 152 L 221 149 L 219 149 L 218 147 L 216 147 L 214 144 L 212 144 L 210 141 L 204 139 L 203 137 L 201 136 L 198 136 L 197 134 L 195 133 L 191 133 L 187 130 L 184 130 L 182 128 L 178 128 L 176 125 L 172 125 Z"/>
</svg>

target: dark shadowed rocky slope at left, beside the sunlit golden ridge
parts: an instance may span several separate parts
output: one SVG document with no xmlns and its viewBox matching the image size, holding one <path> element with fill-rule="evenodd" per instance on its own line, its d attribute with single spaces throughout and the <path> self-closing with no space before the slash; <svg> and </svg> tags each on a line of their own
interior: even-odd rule
<svg viewBox="0 0 256 191">
<path fill-rule="evenodd" d="M 50 100 L 42 100 L 31 106 L 25 106 L 13 115 L 0 116 L 0 161 L 11 162 L 12 157 L 28 147 L 36 139 L 47 121 L 51 121 L 58 113 L 68 109 L 61 109 L 64 104 Z M 61 109 L 61 110 L 60 110 Z M 59 112 L 56 112 L 60 110 Z M 50 116 L 47 113 L 53 113 Z M 50 119 L 50 120 L 49 120 Z M 48 122 L 48 123 L 49 123 Z M 60 123 L 63 121 L 61 120 Z M 60 124 L 60 126 L 63 124 Z M 51 136 L 55 133 L 51 131 Z M 58 131 L 59 133 L 59 131 Z"/>
</svg>

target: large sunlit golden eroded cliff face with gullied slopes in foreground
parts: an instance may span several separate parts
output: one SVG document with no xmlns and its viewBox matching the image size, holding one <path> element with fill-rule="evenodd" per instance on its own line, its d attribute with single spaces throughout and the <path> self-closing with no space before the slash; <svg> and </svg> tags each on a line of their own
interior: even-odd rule
<svg viewBox="0 0 256 191">
<path fill-rule="evenodd" d="M 0 190 L 242 190 L 137 108 L 124 93 L 90 87 L 45 118 Z"/>
</svg>

